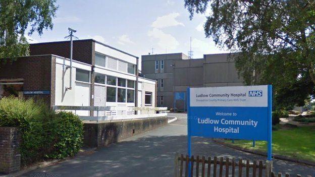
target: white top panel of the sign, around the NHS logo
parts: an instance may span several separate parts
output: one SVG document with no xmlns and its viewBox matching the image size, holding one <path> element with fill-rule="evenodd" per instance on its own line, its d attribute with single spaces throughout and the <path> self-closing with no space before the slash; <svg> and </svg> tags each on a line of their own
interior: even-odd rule
<svg viewBox="0 0 315 177">
<path fill-rule="evenodd" d="M 261 91 L 261 96 L 250 96 L 250 91 Z M 190 88 L 190 106 L 267 107 L 268 85 Z"/>
</svg>

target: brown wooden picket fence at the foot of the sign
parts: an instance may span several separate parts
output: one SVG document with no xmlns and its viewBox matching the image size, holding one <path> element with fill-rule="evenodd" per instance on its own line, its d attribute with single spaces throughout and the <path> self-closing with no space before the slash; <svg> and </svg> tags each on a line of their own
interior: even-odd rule
<svg viewBox="0 0 315 177">
<path fill-rule="evenodd" d="M 189 170 L 190 163 L 190 170 Z M 250 162 L 247 160 L 238 159 L 236 161 L 234 158 L 223 158 L 223 157 L 208 157 L 204 156 L 184 156 L 183 154 L 179 155 L 176 153 L 175 156 L 175 169 L 174 176 L 213 176 L 213 177 L 229 177 L 229 176 L 252 176 L 252 177 L 262 177 L 262 176 L 279 176 L 281 173 L 275 175 L 272 170 L 272 163 L 270 161 L 256 161 Z M 285 177 L 289 177 L 289 174 L 286 174 Z M 300 175 L 297 175 L 300 176 Z M 308 176 L 309 177 L 309 176 Z M 311 177 L 311 176 L 310 176 Z"/>
</svg>

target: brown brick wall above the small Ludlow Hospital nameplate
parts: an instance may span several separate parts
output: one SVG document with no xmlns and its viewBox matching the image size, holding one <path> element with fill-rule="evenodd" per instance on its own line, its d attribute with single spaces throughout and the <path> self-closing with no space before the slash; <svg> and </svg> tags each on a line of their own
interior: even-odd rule
<svg viewBox="0 0 315 177">
<path fill-rule="evenodd" d="M 47 105 L 54 105 L 55 67 L 56 58 L 51 54 L 18 57 L 13 63 L 0 63 L 0 79 L 23 79 L 24 91 L 49 90 L 53 97 L 50 95 L 24 95 L 24 97 L 43 99 Z"/>
</svg>

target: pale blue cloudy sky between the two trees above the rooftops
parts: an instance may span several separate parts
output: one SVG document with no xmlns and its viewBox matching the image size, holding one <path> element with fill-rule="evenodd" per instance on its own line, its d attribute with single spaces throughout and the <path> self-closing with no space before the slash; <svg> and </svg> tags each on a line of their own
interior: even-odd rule
<svg viewBox="0 0 315 177">
<path fill-rule="evenodd" d="M 206 14 L 189 20 L 184 0 L 84 1 L 58 0 L 53 30 L 41 36 L 33 33 L 30 43 L 61 41 L 68 27 L 79 39 L 93 38 L 136 56 L 183 52 L 187 55 L 192 38 L 193 58 L 224 53 L 212 38 L 205 38 Z"/>
</svg>

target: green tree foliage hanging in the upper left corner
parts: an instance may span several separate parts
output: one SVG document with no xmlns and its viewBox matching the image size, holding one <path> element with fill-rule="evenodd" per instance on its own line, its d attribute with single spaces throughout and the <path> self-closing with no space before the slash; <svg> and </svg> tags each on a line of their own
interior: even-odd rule
<svg viewBox="0 0 315 177">
<path fill-rule="evenodd" d="M 0 58 L 27 55 L 27 35 L 42 34 L 53 29 L 52 18 L 58 6 L 56 0 L 1 0 L 0 1 Z"/>
</svg>

